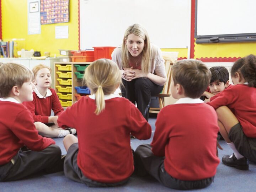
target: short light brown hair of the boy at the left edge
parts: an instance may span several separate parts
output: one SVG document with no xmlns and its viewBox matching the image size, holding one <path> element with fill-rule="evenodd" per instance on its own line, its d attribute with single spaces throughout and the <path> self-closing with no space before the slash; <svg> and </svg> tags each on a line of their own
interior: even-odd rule
<svg viewBox="0 0 256 192">
<path fill-rule="evenodd" d="M 26 66 L 17 63 L 0 64 L 0 97 L 8 97 L 12 87 L 21 87 L 33 80 L 34 74 Z"/>
</svg>

